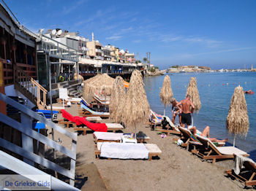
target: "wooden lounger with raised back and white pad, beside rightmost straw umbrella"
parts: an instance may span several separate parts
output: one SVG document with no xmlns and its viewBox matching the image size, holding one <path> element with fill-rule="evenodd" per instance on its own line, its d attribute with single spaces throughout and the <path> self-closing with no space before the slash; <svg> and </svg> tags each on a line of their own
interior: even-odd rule
<svg viewBox="0 0 256 191">
<path fill-rule="evenodd" d="M 192 153 L 204 160 L 212 160 L 212 163 L 215 163 L 217 159 L 231 159 L 234 155 L 242 155 L 244 157 L 249 156 L 249 154 L 236 147 L 217 147 L 209 139 L 204 138 L 203 136 L 196 137 L 200 143 L 203 144 L 203 147 L 192 150 Z"/>
</svg>

